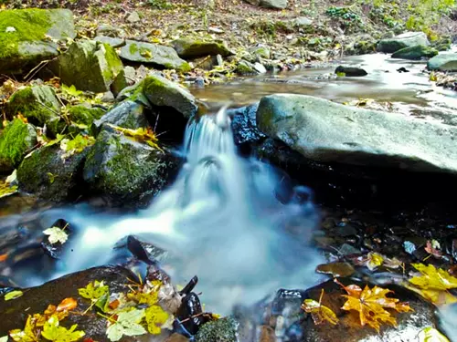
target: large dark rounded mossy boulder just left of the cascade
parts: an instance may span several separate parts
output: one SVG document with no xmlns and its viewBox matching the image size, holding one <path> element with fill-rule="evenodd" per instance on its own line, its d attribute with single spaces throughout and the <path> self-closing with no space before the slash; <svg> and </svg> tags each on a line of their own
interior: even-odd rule
<svg viewBox="0 0 457 342">
<path fill-rule="evenodd" d="M 145 204 L 162 190 L 175 168 L 176 160 L 168 152 L 101 130 L 83 177 L 92 193 L 115 204 Z"/>
</svg>

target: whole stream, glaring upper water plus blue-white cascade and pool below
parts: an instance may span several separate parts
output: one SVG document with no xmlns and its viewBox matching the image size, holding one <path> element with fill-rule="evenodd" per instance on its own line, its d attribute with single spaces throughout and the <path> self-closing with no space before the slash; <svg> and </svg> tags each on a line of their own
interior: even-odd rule
<svg viewBox="0 0 457 342">
<path fill-rule="evenodd" d="M 435 87 L 423 71 L 424 63 L 380 54 L 347 57 L 343 62 L 364 68 L 367 77 L 335 77 L 339 64 L 335 62 L 191 88 L 214 114 L 187 124 L 184 146 L 176 151 L 186 162 L 173 184 L 147 209 L 117 212 L 88 203 L 63 208 L 48 204 L 39 208 L 38 204 L 37 209 L 36 203 L 27 204 L 30 200 L 26 196 L 3 199 L 0 241 L 20 245 L 18 262 L 0 267 L 0 280 L 20 286 L 40 285 L 94 265 L 124 261 L 127 254 L 122 248 L 112 247 L 122 245 L 122 239 L 133 234 L 166 251 L 159 253 L 163 257 L 159 260 L 177 284 L 186 284 L 198 275 L 202 301 L 221 314 L 228 315 L 240 302 L 257 303 L 280 287 L 318 284 L 324 276 L 316 275 L 314 269 L 325 260 L 311 244 L 321 217 L 312 201 L 315 189 L 284 184 L 282 172 L 276 168 L 240 157 L 230 119 L 219 109 L 228 102 L 233 108 L 250 105 L 274 93 L 312 95 L 340 103 L 371 98 L 374 102 L 367 106 L 457 125 L 457 93 Z M 408 72 L 397 71 L 400 67 Z M 277 192 L 292 195 L 280 201 Z M 40 227 L 51 226 L 58 219 L 69 222 L 72 232 L 56 265 L 36 249 Z M 12 225 L 27 226 L 27 244 L 8 237 Z M 457 313 L 445 314 L 448 320 L 452 315 Z M 455 325 L 447 322 L 444 326 L 457 341 L 457 333 L 452 331 Z"/>
</svg>

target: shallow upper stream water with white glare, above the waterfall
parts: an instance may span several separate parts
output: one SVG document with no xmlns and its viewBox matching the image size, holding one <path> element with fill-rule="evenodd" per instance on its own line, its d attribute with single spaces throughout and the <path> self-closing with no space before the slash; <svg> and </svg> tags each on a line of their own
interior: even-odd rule
<svg viewBox="0 0 457 342">
<path fill-rule="evenodd" d="M 362 78 L 337 78 L 339 64 L 363 67 L 368 75 Z M 398 72 L 405 67 L 409 72 Z M 442 119 L 457 109 L 457 93 L 435 87 L 424 72 L 425 62 L 393 59 L 375 54 L 347 57 L 326 67 L 311 67 L 278 75 L 241 78 L 228 84 L 207 88 L 191 88 L 199 99 L 218 107 L 232 100 L 236 105 L 248 105 L 274 93 L 313 95 L 336 102 L 357 98 L 374 98 L 378 102 L 394 102 L 395 111 Z"/>
</svg>

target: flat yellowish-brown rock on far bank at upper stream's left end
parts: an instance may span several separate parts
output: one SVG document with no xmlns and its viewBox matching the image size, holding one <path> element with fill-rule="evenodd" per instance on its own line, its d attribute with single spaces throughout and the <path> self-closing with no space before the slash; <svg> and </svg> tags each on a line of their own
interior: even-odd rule
<svg viewBox="0 0 457 342">
<path fill-rule="evenodd" d="M 194 39 L 176 39 L 172 42 L 177 55 L 181 58 L 196 58 L 217 56 L 228 57 L 234 55 L 224 42 L 200 41 Z"/>
</svg>

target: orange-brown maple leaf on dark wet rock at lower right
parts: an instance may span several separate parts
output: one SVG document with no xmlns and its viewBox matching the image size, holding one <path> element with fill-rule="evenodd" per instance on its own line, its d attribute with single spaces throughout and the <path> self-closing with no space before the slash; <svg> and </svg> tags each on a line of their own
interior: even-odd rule
<svg viewBox="0 0 457 342">
<path fill-rule="evenodd" d="M 393 291 L 386 288 L 374 286 L 369 288 L 368 285 L 362 290 L 358 285 L 342 285 L 337 280 L 336 283 L 343 286 L 347 298 L 343 310 L 356 310 L 359 313 L 360 324 L 362 326 L 368 325 L 379 332 L 381 324 L 390 324 L 397 326 L 397 320 L 391 316 L 386 309 L 393 309 L 398 312 L 413 311 L 407 303 L 400 303 L 399 299 L 388 297 L 389 293 Z"/>
</svg>

